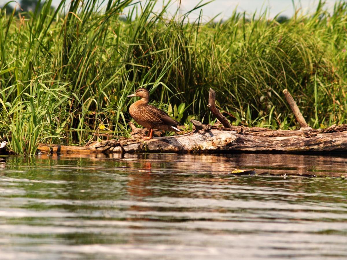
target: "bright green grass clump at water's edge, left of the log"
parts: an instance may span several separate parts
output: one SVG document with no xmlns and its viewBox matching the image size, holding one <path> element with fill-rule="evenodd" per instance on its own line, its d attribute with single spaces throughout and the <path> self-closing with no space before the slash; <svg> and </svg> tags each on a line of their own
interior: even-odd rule
<svg viewBox="0 0 347 260">
<path fill-rule="evenodd" d="M 3 107 L 0 130 L 5 130 L 9 147 L 17 154 L 34 155 L 39 141 L 57 142 L 67 123 L 62 107 L 69 99 L 67 84 L 44 80 L 47 75 L 0 91 Z M 22 90 L 16 98 L 7 101 L 8 94 L 18 89 Z"/>
</svg>

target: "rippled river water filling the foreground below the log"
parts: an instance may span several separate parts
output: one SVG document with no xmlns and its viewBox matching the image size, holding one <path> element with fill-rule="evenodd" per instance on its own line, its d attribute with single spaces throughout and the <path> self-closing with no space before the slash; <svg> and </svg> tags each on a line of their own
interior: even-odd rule
<svg viewBox="0 0 347 260">
<path fill-rule="evenodd" d="M 344 259 L 346 162 L 0 157 L 0 259 Z"/>
</svg>

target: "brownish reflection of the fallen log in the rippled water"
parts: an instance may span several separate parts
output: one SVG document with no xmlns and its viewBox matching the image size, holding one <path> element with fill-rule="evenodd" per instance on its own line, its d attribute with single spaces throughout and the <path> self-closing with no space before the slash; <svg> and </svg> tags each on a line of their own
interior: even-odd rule
<svg viewBox="0 0 347 260">
<path fill-rule="evenodd" d="M 189 154 L 118 154 L 109 155 L 129 162 L 129 168 L 144 170 L 146 162 L 163 173 L 210 173 L 230 174 L 235 169 L 252 170 L 256 175 L 346 175 L 346 156 L 291 155 L 291 154 L 228 154 L 228 155 L 189 155 Z M 135 163 L 135 161 L 136 163 Z M 135 163 L 135 164 L 134 164 Z"/>
</svg>

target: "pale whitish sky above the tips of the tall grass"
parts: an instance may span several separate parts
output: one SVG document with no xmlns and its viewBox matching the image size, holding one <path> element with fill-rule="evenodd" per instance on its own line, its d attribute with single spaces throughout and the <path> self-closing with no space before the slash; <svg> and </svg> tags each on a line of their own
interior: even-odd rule
<svg viewBox="0 0 347 260">
<path fill-rule="evenodd" d="M 0 0 L 0 6 L 6 3 L 8 0 Z M 20 0 L 18 0 L 20 1 Z M 179 0 L 178 0 L 179 1 Z M 178 6 L 178 1 L 174 1 L 171 4 L 169 11 L 174 12 Z M 207 1 L 207 0 L 206 0 Z M 53 5 L 57 6 L 60 0 L 53 0 Z M 141 2 L 145 2 L 144 0 Z M 184 13 L 187 10 L 191 10 L 194 6 L 199 3 L 199 0 L 181 0 L 181 12 Z M 313 12 L 316 7 L 318 0 L 294 0 L 295 5 L 300 7 L 303 12 Z M 326 0 L 327 8 L 332 8 L 335 0 Z M 156 4 L 156 9 L 160 10 L 162 6 L 162 1 L 159 0 Z M 269 18 L 276 16 L 281 13 L 281 15 L 292 16 L 294 13 L 292 0 L 215 0 L 212 3 L 204 6 L 202 8 L 203 18 L 209 20 L 214 16 L 219 15 L 219 18 L 228 18 L 235 8 L 240 12 L 246 12 L 251 15 L 255 11 L 264 10 L 265 7 L 269 7 Z M 199 11 L 195 11 L 189 18 L 194 19 L 199 14 Z"/>
</svg>

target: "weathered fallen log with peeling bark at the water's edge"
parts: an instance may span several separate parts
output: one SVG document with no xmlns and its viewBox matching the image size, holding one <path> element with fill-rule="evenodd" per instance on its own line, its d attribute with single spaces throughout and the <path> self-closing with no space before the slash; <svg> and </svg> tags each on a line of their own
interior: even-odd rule
<svg viewBox="0 0 347 260">
<path fill-rule="evenodd" d="M 192 152 L 262 152 L 307 153 L 347 152 L 347 124 L 332 125 L 327 129 L 296 131 L 262 128 L 226 128 L 203 125 L 180 136 L 156 137 L 151 140 L 122 138 L 93 142 L 86 147 L 40 144 L 42 153 L 95 154 L 95 153 L 192 153 Z M 239 131 L 238 131 L 239 130 Z"/>
</svg>

